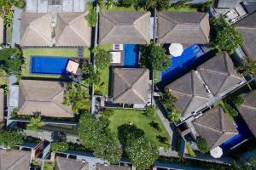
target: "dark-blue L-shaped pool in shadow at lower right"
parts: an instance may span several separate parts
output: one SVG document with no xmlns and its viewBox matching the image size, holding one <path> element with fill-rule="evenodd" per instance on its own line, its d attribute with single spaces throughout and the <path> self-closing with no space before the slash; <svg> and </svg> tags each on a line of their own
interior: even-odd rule
<svg viewBox="0 0 256 170">
<path fill-rule="evenodd" d="M 253 137 L 253 134 L 247 127 L 246 122 L 244 122 L 241 117 L 238 116 L 234 120 L 236 122 L 236 129 L 238 134 L 220 145 L 224 152 L 232 149 L 234 146 L 240 144 L 245 139 L 250 139 Z"/>
</svg>

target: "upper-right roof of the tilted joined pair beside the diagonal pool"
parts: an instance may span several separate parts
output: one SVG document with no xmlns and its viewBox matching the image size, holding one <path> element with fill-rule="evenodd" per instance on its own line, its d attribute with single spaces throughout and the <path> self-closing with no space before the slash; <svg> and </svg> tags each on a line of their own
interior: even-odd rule
<svg viewBox="0 0 256 170">
<path fill-rule="evenodd" d="M 226 52 L 207 60 L 197 70 L 214 96 L 224 93 L 243 80 Z"/>
</svg>

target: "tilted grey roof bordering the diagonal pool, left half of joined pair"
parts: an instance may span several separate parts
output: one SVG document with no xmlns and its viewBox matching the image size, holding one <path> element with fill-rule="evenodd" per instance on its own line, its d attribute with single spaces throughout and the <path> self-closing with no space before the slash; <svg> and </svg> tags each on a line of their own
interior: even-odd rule
<svg viewBox="0 0 256 170">
<path fill-rule="evenodd" d="M 209 99 L 195 71 L 189 71 L 166 88 L 177 98 L 175 106 L 183 117 L 189 116 L 191 112 L 205 105 Z"/>
</svg>

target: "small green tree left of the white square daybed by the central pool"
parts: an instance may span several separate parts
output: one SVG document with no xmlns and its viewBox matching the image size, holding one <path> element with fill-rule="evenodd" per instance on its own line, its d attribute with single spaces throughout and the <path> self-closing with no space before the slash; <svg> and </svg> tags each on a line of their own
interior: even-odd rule
<svg viewBox="0 0 256 170">
<path fill-rule="evenodd" d="M 104 48 L 96 47 L 94 50 L 95 53 L 95 62 L 98 69 L 104 69 L 109 66 L 109 63 L 112 61 L 112 55 L 109 51 Z"/>
</svg>

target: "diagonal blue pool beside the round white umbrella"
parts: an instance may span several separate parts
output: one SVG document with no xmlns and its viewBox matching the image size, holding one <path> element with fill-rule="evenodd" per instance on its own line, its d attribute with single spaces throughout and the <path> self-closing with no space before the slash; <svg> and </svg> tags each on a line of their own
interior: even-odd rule
<svg viewBox="0 0 256 170">
<path fill-rule="evenodd" d="M 191 65 L 195 65 L 200 60 L 200 57 L 205 54 L 200 45 L 191 45 L 184 49 L 183 54 L 179 57 L 172 57 L 172 67 L 161 72 L 162 82 L 172 80 L 172 77 L 177 76 L 182 71 L 185 71 Z"/>
</svg>

